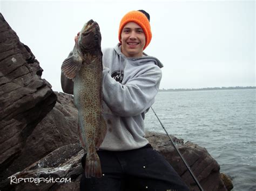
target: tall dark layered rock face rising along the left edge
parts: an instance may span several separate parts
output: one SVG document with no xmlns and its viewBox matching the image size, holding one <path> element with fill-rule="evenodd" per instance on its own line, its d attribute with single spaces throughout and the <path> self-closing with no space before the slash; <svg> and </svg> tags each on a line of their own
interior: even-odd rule
<svg viewBox="0 0 256 191">
<path fill-rule="evenodd" d="M 57 96 L 41 78 L 43 69 L 0 13 L 0 180 L 13 173 L 37 124 Z M 26 156 L 28 158 L 28 156 Z M 19 169 L 24 169 L 22 166 Z M 17 172 L 17 171 L 16 171 Z"/>
</svg>

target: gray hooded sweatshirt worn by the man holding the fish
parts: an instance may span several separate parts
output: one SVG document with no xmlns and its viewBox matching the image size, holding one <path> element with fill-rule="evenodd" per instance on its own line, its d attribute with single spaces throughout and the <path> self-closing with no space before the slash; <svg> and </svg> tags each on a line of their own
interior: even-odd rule
<svg viewBox="0 0 256 191">
<path fill-rule="evenodd" d="M 126 151 L 149 142 L 145 138 L 145 113 L 154 103 L 161 80 L 161 62 L 143 53 L 126 58 L 120 44 L 103 50 L 103 116 L 106 137 L 100 150 Z M 72 94 L 73 84 L 62 74 L 62 89 Z"/>
</svg>

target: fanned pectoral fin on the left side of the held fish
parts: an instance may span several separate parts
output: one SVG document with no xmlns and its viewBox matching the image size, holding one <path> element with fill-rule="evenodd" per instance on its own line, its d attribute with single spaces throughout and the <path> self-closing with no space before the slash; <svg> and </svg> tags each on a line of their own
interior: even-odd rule
<svg viewBox="0 0 256 191">
<path fill-rule="evenodd" d="M 62 63 L 62 72 L 68 79 L 73 79 L 82 66 L 83 59 L 79 56 L 69 56 Z"/>
</svg>

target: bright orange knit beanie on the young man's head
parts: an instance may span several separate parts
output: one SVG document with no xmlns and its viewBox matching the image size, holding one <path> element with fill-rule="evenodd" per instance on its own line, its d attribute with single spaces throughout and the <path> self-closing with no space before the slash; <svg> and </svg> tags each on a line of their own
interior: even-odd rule
<svg viewBox="0 0 256 191">
<path fill-rule="evenodd" d="M 152 33 L 151 33 L 151 27 L 150 27 L 150 22 L 149 19 L 144 15 L 144 13 L 140 11 L 130 11 L 128 12 L 121 20 L 120 25 L 119 25 L 119 30 L 118 30 L 118 39 L 121 43 L 121 33 L 123 30 L 123 27 L 129 23 L 129 22 L 134 22 L 137 23 L 140 27 L 142 27 L 145 37 L 146 37 L 146 43 L 143 49 L 147 47 L 147 45 L 150 44 L 151 38 L 152 38 Z"/>
</svg>

